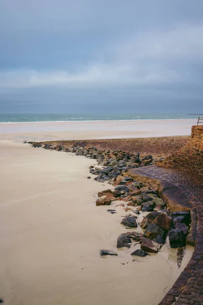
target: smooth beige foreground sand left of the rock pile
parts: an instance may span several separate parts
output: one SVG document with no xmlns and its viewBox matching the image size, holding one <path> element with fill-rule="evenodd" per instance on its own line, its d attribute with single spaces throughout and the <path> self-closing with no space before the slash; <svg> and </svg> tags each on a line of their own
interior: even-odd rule
<svg viewBox="0 0 203 305">
<path fill-rule="evenodd" d="M 7 136 L 30 136 L 19 132 Z M 56 136 L 50 131 L 40 137 L 48 135 Z M 0 141 L 0 298 L 5 304 L 157 305 L 187 265 L 192 247 L 186 248 L 180 269 L 177 250 L 168 243 L 136 261 L 130 253 L 140 246 L 134 242 L 117 251 L 117 236 L 127 232 L 120 224 L 126 213 L 122 207 L 117 214 L 107 212 L 118 201 L 95 206 L 94 195 L 109 185 L 87 179 L 92 164 L 95 160 L 85 157 Z M 100 257 L 100 249 L 116 250 L 118 256 Z"/>
</svg>

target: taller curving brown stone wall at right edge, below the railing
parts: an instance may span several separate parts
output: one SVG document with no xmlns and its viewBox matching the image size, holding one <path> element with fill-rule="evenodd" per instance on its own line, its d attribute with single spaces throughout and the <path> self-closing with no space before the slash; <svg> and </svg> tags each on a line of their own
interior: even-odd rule
<svg viewBox="0 0 203 305">
<path fill-rule="evenodd" d="M 203 181 L 203 126 L 192 126 L 190 140 L 181 149 L 160 160 L 158 166 L 184 171 L 197 182 Z"/>
</svg>

